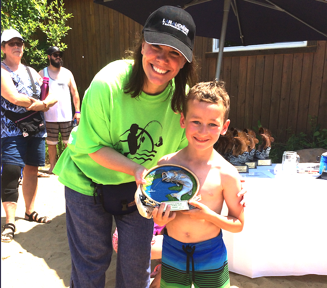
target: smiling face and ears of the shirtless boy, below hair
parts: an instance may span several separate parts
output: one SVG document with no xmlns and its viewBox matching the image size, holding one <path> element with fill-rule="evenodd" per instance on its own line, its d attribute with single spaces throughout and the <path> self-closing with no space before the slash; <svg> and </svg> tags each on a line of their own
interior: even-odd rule
<svg viewBox="0 0 327 288">
<path fill-rule="evenodd" d="M 229 126 L 229 119 L 224 123 L 224 113 L 222 104 L 189 100 L 186 117 L 183 113 L 180 116 L 180 127 L 185 128 L 189 145 L 197 150 L 211 148 Z"/>
</svg>

